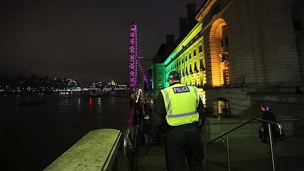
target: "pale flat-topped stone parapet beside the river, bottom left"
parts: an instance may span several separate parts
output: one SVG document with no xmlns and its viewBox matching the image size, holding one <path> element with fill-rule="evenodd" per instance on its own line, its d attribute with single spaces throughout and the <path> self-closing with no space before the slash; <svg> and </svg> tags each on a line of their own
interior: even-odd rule
<svg viewBox="0 0 304 171">
<path fill-rule="evenodd" d="M 90 131 L 44 171 L 111 170 L 118 152 L 121 135 L 121 131 L 116 129 Z"/>
</svg>

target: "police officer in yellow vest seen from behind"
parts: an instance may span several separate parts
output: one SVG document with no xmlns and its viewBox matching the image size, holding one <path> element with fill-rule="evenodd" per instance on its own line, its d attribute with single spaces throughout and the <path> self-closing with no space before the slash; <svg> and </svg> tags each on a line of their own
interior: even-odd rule
<svg viewBox="0 0 304 171">
<path fill-rule="evenodd" d="M 165 129 L 165 153 L 169 171 L 184 170 L 185 158 L 191 171 L 203 170 L 201 126 L 206 111 L 197 87 L 180 83 L 176 71 L 169 73 L 170 86 L 161 90 L 151 114 L 151 142 Z"/>
</svg>

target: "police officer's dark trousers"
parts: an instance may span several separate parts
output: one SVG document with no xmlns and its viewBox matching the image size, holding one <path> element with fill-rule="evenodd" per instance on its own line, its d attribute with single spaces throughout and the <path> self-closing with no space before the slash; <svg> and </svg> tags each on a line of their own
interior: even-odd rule
<svg viewBox="0 0 304 171">
<path fill-rule="evenodd" d="M 167 168 L 185 170 L 185 158 L 191 171 L 203 171 L 201 132 L 197 130 L 170 130 L 166 135 Z"/>
</svg>

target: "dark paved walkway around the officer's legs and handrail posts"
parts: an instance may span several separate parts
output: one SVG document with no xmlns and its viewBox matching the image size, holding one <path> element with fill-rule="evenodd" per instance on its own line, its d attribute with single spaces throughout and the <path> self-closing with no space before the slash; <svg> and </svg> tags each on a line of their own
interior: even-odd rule
<svg viewBox="0 0 304 171">
<path fill-rule="evenodd" d="M 140 143 L 139 143 L 140 145 Z M 223 171 L 227 167 L 226 142 L 213 142 L 206 146 L 207 170 Z M 229 141 L 231 171 L 271 171 L 273 164 L 268 144 L 259 140 Z M 277 171 L 304 170 L 304 141 L 295 137 L 276 142 Z M 148 154 L 142 147 L 138 148 L 138 171 L 166 171 L 163 143 L 153 147 Z M 187 166 L 185 170 L 188 170 Z"/>
</svg>

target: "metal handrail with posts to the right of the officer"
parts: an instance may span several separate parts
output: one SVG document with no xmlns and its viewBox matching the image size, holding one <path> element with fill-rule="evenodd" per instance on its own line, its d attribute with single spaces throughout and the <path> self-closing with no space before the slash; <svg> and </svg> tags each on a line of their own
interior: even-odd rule
<svg viewBox="0 0 304 171">
<path fill-rule="evenodd" d="M 272 163 L 273 163 L 273 171 L 277 170 L 277 166 L 276 166 L 276 154 L 275 154 L 275 146 L 274 146 L 274 140 L 273 140 L 273 135 L 272 135 L 272 130 L 271 130 L 271 124 L 272 125 L 276 125 L 279 128 L 279 132 L 280 134 L 283 134 L 283 127 L 281 124 L 276 123 L 276 122 L 272 122 L 269 120 L 265 120 L 265 119 L 260 119 L 260 118 L 250 118 L 247 121 L 244 121 L 243 123 L 241 123 L 238 126 L 235 126 L 223 133 L 221 133 L 220 135 L 216 136 L 216 138 L 212 139 L 209 142 L 205 142 L 204 140 L 202 140 L 202 142 L 204 143 L 204 161 L 205 161 L 205 170 L 207 170 L 207 164 L 206 164 L 206 144 L 209 144 L 211 142 L 214 142 L 215 140 L 218 140 L 219 138 L 222 138 L 222 136 L 226 135 L 226 147 L 227 147 L 227 164 L 228 164 L 228 170 L 230 171 L 230 157 L 229 157 L 229 139 L 228 139 L 228 133 L 246 125 L 247 123 L 256 120 L 256 121 L 261 121 L 261 122 L 265 122 L 268 123 L 268 131 L 269 131 L 269 139 L 270 139 L 270 149 L 271 149 L 271 156 L 272 156 Z M 204 125 L 207 124 L 211 124 L 211 123 L 206 123 Z"/>
</svg>

